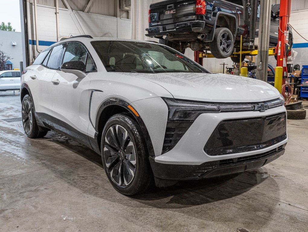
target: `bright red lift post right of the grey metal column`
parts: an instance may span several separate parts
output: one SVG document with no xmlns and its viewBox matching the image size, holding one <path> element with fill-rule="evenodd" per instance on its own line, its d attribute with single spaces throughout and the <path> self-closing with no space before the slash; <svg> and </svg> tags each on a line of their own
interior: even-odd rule
<svg viewBox="0 0 308 232">
<path fill-rule="evenodd" d="M 276 48 L 277 53 L 277 67 L 283 67 L 282 70 L 282 84 L 287 78 L 287 46 L 289 39 L 289 21 L 290 21 L 291 0 L 280 0 L 279 9 L 279 28 L 278 28 L 278 44 Z"/>
</svg>

